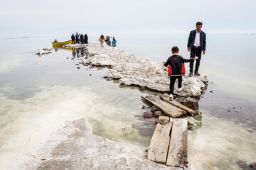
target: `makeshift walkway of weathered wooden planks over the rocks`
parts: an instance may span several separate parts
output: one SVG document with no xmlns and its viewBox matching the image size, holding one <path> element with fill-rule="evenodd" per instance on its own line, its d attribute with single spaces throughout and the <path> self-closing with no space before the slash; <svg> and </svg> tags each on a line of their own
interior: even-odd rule
<svg viewBox="0 0 256 170">
<path fill-rule="evenodd" d="M 183 167 L 188 164 L 188 121 L 178 118 L 183 114 L 196 112 L 168 96 L 146 96 L 146 101 L 154 104 L 166 116 L 159 117 L 148 149 L 148 159 L 167 166 Z"/>
</svg>

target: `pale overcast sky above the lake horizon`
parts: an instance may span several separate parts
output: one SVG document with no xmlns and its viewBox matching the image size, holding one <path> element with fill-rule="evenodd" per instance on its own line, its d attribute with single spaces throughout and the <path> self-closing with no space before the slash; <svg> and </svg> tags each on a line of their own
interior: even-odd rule
<svg viewBox="0 0 256 170">
<path fill-rule="evenodd" d="M 70 33 L 256 33 L 255 0 L 0 0 L 0 37 Z"/>
</svg>

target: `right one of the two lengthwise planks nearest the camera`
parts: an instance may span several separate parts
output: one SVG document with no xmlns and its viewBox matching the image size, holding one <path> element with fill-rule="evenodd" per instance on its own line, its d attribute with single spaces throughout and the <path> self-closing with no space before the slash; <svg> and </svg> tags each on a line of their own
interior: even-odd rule
<svg viewBox="0 0 256 170">
<path fill-rule="evenodd" d="M 167 155 L 167 166 L 180 167 L 188 164 L 188 121 L 174 119 Z"/>
</svg>

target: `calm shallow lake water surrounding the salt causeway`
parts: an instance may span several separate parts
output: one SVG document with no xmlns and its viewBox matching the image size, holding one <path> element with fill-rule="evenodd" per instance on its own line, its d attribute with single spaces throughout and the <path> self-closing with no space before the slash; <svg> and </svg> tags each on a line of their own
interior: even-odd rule
<svg viewBox="0 0 256 170">
<path fill-rule="evenodd" d="M 115 38 L 120 50 L 162 62 L 174 45 L 180 55 L 189 57 L 187 36 Z M 148 147 L 154 125 L 136 115 L 143 113 L 140 96 L 154 92 L 106 81 L 102 77 L 107 69 L 77 69 L 78 61 L 70 60 L 73 50 L 35 55 L 37 49 L 50 47 L 53 39 L 0 39 L 0 166 L 24 156 L 38 130 L 65 119 L 85 118 L 96 135 Z M 96 35 L 89 35 L 89 42 L 96 40 Z M 255 43 L 256 35 L 251 34 L 207 35 L 199 71 L 207 73 L 210 81 L 199 101 L 196 118 L 201 125 L 188 131 L 188 161 L 195 169 L 240 169 L 238 162 L 256 162 Z"/>
</svg>

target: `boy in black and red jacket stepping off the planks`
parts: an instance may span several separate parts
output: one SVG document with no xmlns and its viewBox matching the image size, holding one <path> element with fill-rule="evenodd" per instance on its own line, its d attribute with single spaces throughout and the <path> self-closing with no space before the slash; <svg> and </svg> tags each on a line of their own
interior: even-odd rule
<svg viewBox="0 0 256 170">
<path fill-rule="evenodd" d="M 198 60 L 198 57 L 191 59 L 183 59 L 183 57 L 178 55 L 178 47 L 174 46 L 171 48 L 172 56 L 164 63 L 164 66 L 169 66 L 168 74 L 170 77 L 170 96 L 169 99 L 173 100 L 174 94 L 174 84 L 176 79 L 178 79 L 178 91 L 181 91 L 182 76 L 185 75 L 185 64 L 184 62 L 191 62 L 193 60 Z"/>
</svg>

